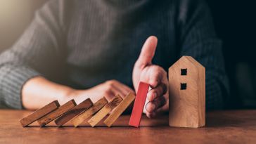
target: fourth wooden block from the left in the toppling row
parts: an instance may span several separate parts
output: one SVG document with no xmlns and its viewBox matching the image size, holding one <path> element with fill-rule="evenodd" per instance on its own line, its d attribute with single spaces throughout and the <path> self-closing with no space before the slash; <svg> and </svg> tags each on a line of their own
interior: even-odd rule
<svg viewBox="0 0 256 144">
<path fill-rule="evenodd" d="M 84 122 L 86 119 L 88 119 L 89 117 L 91 117 L 93 114 L 95 114 L 96 112 L 98 112 L 98 110 L 100 110 L 104 105 L 106 105 L 108 103 L 108 100 L 105 99 L 105 97 L 101 98 L 100 100 L 98 100 L 96 103 L 94 103 L 94 105 L 92 107 L 90 107 L 88 110 L 85 110 L 84 112 L 81 112 L 80 114 L 78 114 L 76 117 L 74 117 L 71 121 L 72 124 L 77 127 L 79 126 L 79 124 L 81 124 L 82 122 Z"/>
</svg>

